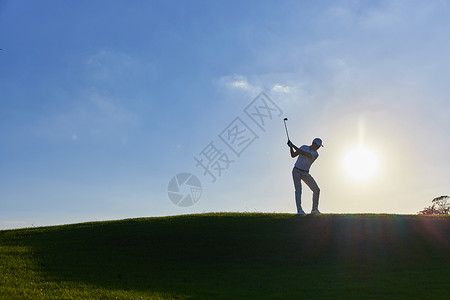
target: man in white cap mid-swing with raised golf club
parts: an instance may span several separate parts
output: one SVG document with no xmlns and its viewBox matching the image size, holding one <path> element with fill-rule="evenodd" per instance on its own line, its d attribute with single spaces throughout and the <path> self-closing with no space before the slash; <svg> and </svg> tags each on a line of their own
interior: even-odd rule
<svg viewBox="0 0 450 300">
<path fill-rule="evenodd" d="M 286 127 L 287 118 L 284 119 L 284 126 L 286 128 L 286 135 L 288 137 L 288 146 L 291 152 L 291 157 L 297 157 L 294 168 L 292 169 L 292 178 L 294 179 L 295 187 L 295 203 L 297 204 L 297 214 L 304 215 L 305 212 L 302 209 L 302 180 L 313 192 L 313 206 L 311 214 L 320 214 L 319 211 L 319 194 L 320 188 L 317 185 L 314 178 L 309 174 L 309 168 L 312 163 L 319 157 L 317 150 L 323 147 L 322 140 L 315 138 L 311 146 L 303 145 L 300 148 L 295 146 L 289 139 L 289 134 Z"/>
</svg>

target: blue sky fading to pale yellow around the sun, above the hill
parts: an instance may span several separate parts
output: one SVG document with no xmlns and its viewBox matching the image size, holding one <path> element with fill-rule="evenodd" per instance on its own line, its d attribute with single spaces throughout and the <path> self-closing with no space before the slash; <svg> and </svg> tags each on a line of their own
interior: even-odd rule
<svg viewBox="0 0 450 300">
<path fill-rule="evenodd" d="M 295 212 L 283 118 L 328 213 L 448 195 L 446 1 L 0 1 L 0 228 L 211 211 Z M 258 128 L 264 92 L 282 111 Z M 258 138 L 236 156 L 239 117 Z M 215 182 L 194 157 L 231 160 Z M 344 172 L 364 144 L 376 173 Z M 188 172 L 198 202 L 174 205 Z M 304 190 L 304 208 L 311 194 Z"/>
</svg>

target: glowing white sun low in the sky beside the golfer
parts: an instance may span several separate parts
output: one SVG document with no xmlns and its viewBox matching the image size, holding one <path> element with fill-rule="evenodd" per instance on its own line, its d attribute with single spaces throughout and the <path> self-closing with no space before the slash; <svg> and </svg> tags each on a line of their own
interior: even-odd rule
<svg viewBox="0 0 450 300">
<path fill-rule="evenodd" d="M 343 163 L 347 174 L 356 180 L 369 179 L 378 169 L 378 157 L 362 145 L 350 150 Z"/>
</svg>

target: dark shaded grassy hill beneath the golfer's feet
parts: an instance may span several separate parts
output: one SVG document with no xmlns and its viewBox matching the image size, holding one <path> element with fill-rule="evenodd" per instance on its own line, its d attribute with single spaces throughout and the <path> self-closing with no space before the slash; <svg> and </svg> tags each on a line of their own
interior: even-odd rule
<svg viewBox="0 0 450 300">
<path fill-rule="evenodd" d="M 450 218 L 203 214 L 0 231 L 5 299 L 450 299 Z"/>
</svg>

